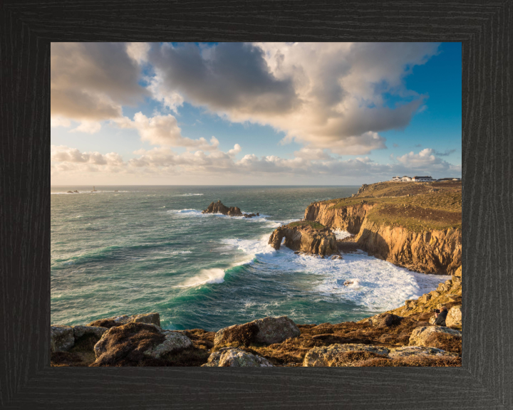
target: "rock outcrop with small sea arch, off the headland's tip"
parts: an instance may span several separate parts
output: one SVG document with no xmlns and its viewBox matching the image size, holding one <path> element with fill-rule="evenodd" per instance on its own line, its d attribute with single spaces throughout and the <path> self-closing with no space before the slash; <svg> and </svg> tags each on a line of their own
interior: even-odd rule
<svg viewBox="0 0 513 410">
<path fill-rule="evenodd" d="M 285 246 L 293 251 L 330 256 L 338 253 L 335 233 L 331 229 L 315 228 L 309 224 L 292 223 L 280 226 L 271 233 L 269 244 L 279 250 L 285 238 Z"/>
</svg>

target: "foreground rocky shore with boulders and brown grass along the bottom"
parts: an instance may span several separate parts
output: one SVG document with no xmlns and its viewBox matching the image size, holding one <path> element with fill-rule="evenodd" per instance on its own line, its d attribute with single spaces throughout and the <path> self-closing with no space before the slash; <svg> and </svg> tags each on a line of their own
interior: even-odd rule
<svg viewBox="0 0 513 410">
<path fill-rule="evenodd" d="M 461 272 L 437 290 L 359 322 L 264 317 L 217 332 L 164 330 L 157 312 L 51 326 L 51 365 L 196 367 L 461 366 Z M 450 308 L 447 327 L 433 308 Z"/>
</svg>

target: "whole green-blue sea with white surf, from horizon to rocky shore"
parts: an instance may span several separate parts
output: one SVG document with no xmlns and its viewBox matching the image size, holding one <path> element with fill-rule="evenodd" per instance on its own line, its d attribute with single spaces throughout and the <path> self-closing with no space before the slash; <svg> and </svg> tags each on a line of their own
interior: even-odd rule
<svg viewBox="0 0 513 410">
<path fill-rule="evenodd" d="M 75 189 L 81 193 L 66 194 Z M 51 188 L 52 323 L 153 311 L 162 327 L 178 330 L 219 330 L 269 315 L 336 323 L 398 307 L 446 279 L 363 252 L 331 261 L 267 244 L 274 228 L 303 218 L 312 201 L 351 196 L 358 186 L 91 189 Z M 260 217 L 201 214 L 218 199 Z"/>
</svg>

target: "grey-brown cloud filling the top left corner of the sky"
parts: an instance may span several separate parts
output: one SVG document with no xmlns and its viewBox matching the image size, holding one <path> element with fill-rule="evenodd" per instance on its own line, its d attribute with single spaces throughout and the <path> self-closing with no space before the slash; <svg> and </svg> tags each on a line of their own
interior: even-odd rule
<svg viewBox="0 0 513 410">
<path fill-rule="evenodd" d="M 108 120 L 150 95 L 125 43 L 51 43 L 50 57 L 51 117 Z"/>
</svg>

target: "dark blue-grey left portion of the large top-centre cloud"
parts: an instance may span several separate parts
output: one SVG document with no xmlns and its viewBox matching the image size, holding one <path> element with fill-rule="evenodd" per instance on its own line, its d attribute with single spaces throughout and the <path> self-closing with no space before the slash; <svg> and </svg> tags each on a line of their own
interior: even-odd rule
<svg viewBox="0 0 513 410">
<path fill-rule="evenodd" d="M 219 43 L 198 48 L 192 43 L 153 44 L 148 54 L 163 94 L 179 93 L 214 111 L 276 116 L 291 111 L 299 100 L 291 78 L 270 72 L 264 51 L 248 43 Z"/>
</svg>

